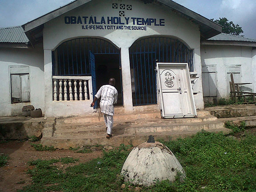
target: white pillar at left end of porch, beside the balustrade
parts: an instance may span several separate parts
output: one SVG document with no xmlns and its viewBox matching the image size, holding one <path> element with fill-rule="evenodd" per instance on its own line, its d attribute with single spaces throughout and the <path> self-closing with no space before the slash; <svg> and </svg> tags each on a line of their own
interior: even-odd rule
<svg viewBox="0 0 256 192">
<path fill-rule="evenodd" d="M 52 113 L 52 51 L 44 49 L 44 105 L 45 117 Z"/>
</svg>

